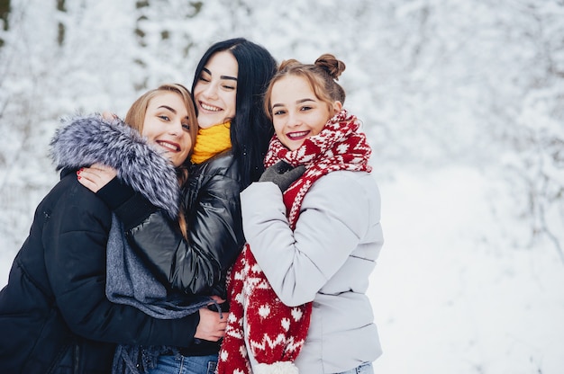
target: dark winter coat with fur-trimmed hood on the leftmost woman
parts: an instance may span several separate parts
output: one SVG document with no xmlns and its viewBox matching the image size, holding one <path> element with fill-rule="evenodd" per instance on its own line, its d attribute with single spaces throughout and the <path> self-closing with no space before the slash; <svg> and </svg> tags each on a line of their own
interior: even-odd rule
<svg viewBox="0 0 564 374">
<path fill-rule="evenodd" d="M 98 129 L 108 130 L 99 124 Z M 86 137 L 81 145 L 86 148 L 77 147 L 74 140 L 63 141 L 74 146 L 67 148 L 77 155 L 60 157 L 55 152 L 59 166 L 90 165 L 85 158 L 93 150 L 87 148 L 89 142 L 96 138 L 113 141 L 116 137 L 114 129 L 105 134 L 96 131 L 91 134 L 94 138 L 80 134 Z M 127 129 L 116 131 L 125 138 L 131 135 Z M 59 132 L 56 138 L 60 142 L 64 137 Z M 96 154 L 98 148 L 94 150 Z M 144 156 L 134 147 L 126 151 L 98 156 Z M 165 164 L 143 173 L 156 174 L 156 180 L 169 178 L 163 173 L 168 170 Z M 130 171 L 141 172 L 135 167 Z M 129 177 L 125 175 L 124 179 Z M 174 184 L 174 176 L 172 179 Z M 153 192 L 162 196 L 159 189 Z M 8 284 L 0 291 L 1 373 L 108 373 L 116 343 L 180 347 L 193 343 L 197 313 L 183 319 L 158 320 L 105 297 L 111 213 L 103 200 L 77 182 L 74 173 L 63 173 L 41 201 L 30 235 L 14 259 Z"/>
</svg>

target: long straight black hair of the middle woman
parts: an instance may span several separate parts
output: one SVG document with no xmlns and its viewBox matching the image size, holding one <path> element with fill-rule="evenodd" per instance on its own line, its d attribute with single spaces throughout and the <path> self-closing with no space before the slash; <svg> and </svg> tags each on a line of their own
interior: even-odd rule
<svg viewBox="0 0 564 374">
<path fill-rule="evenodd" d="M 258 181 L 264 171 L 264 156 L 274 134 L 272 123 L 263 109 L 263 95 L 276 73 L 277 63 L 267 49 L 244 38 L 219 41 L 207 49 L 200 59 L 192 93 L 207 61 L 214 53 L 224 50 L 230 51 L 239 65 L 235 118 L 231 121 L 230 135 L 241 183 L 246 187 Z"/>
</svg>

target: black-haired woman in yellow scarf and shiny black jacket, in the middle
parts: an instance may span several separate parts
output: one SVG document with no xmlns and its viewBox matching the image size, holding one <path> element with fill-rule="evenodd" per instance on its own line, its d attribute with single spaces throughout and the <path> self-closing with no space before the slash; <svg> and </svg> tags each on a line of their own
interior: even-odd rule
<svg viewBox="0 0 564 374">
<path fill-rule="evenodd" d="M 114 210 L 134 250 L 170 289 L 226 298 L 226 273 L 244 244 L 240 192 L 264 171 L 274 132 L 262 98 L 276 67 L 267 49 L 242 38 L 215 43 L 198 63 L 192 95 L 199 129 L 181 201 L 186 236 L 151 204 L 138 204 L 135 215 Z M 95 165 L 81 173 L 81 181 L 98 191 L 114 175 Z M 212 373 L 219 348 L 197 341 L 180 355 L 160 356 L 150 373 L 176 373 L 186 365 L 186 373 Z"/>
</svg>

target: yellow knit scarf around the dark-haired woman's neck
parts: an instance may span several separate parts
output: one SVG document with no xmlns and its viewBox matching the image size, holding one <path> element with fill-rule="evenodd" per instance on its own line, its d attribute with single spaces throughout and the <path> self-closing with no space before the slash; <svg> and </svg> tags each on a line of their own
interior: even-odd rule
<svg viewBox="0 0 564 374">
<path fill-rule="evenodd" d="M 191 157 L 192 162 L 201 164 L 218 153 L 231 148 L 230 128 L 231 122 L 225 122 L 208 129 L 198 129 L 196 144 Z"/>
</svg>

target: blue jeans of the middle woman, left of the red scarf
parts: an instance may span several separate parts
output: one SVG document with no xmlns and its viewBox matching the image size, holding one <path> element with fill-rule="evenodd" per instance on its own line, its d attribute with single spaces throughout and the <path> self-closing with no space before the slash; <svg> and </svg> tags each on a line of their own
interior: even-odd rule
<svg viewBox="0 0 564 374">
<path fill-rule="evenodd" d="M 214 374 L 217 354 L 210 356 L 159 356 L 157 366 L 148 374 Z"/>
</svg>

